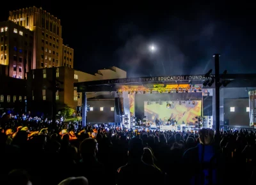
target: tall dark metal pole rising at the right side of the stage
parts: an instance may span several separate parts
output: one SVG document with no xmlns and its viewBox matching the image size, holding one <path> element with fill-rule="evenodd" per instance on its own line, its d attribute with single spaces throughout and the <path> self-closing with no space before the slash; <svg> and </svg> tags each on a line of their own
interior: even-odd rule
<svg viewBox="0 0 256 185">
<path fill-rule="evenodd" d="M 220 54 L 214 54 L 216 135 L 220 135 Z"/>
</svg>

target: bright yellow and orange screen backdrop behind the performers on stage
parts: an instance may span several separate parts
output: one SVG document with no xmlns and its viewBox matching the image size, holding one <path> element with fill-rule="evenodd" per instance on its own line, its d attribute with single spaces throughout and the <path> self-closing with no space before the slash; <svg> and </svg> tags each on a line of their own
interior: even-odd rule
<svg viewBox="0 0 256 185">
<path fill-rule="evenodd" d="M 156 118 L 168 121 L 170 117 L 178 124 L 193 125 L 195 117 L 201 115 L 202 101 L 144 101 L 144 115 L 148 121 L 155 121 Z"/>
</svg>

